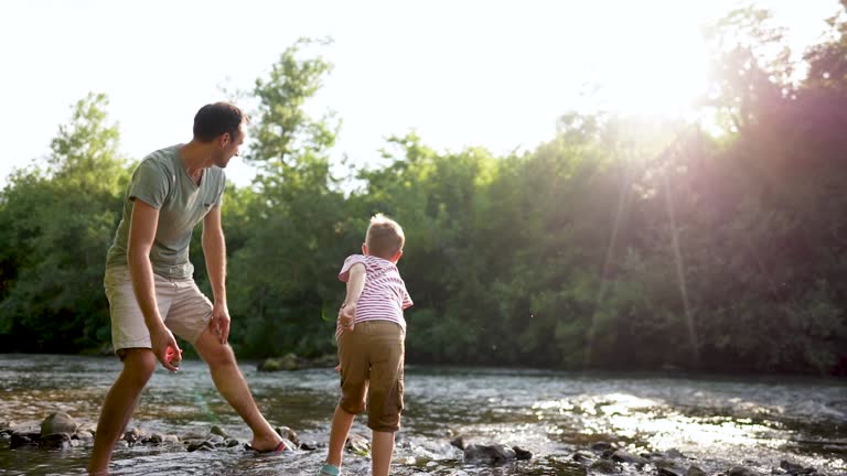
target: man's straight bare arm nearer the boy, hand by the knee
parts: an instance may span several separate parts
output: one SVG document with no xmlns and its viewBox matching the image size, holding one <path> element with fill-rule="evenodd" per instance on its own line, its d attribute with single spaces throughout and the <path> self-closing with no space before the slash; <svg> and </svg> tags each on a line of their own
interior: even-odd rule
<svg viewBox="0 0 847 476">
<path fill-rule="evenodd" d="M 206 258 L 208 282 L 215 304 L 212 324 L 221 337 L 221 344 L 229 338 L 229 310 L 226 306 L 226 241 L 221 225 L 221 207 L 215 206 L 203 218 L 203 256 Z"/>
</svg>

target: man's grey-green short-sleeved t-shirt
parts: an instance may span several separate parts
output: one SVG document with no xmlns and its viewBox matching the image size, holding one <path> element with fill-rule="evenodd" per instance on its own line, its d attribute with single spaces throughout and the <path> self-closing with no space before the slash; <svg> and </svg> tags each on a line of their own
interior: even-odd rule
<svg viewBox="0 0 847 476">
<path fill-rule="evenodd" d="M 127 266 L 129 224 L 135 201 L 140 199 L 159 210 L 159 226 L 150 250 L 153 272 L 169 279 L 191 278 L 191 234 L 212 207 L 221 206 L 224 185 L 224 171 L 217 166 L 205 169 L 196 185 L 182 164 L 180 145 L 146 156 L 124 197 L 124 215 L 106 256 L 106 268 Z"/>
</svg>

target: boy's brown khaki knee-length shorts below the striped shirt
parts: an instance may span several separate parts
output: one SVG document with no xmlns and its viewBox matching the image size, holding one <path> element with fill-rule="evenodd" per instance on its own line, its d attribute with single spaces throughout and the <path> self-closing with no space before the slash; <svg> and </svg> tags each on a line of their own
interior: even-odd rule
<svg viewBox="0 0 847 476">
<path fill-rule="evenodd" d="M 351 414 L 367 408 L 371 430 L 396 432 L 400 429 L 405 339 L 406 332 L 392 321 L 358 322 L 353 332 L 339 335 L 339 405 Z"/>
</svg>

